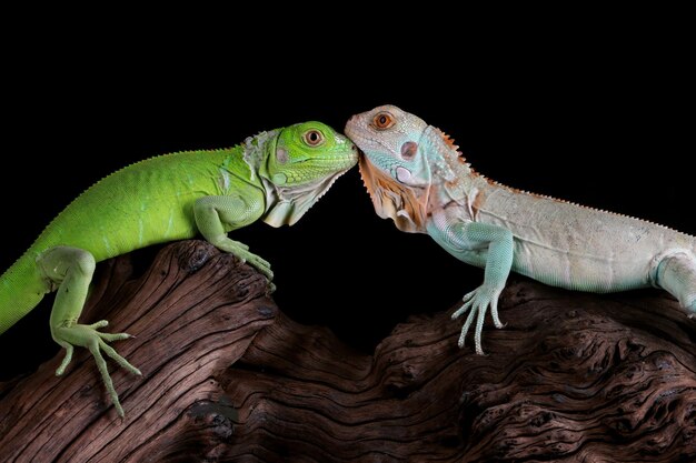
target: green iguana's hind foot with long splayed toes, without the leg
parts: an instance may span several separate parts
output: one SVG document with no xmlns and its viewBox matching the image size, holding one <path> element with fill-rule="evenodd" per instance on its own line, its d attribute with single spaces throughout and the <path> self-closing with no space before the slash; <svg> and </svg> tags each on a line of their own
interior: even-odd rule
<svg viewBox="0 0 696 463">
<path fill-rule="evenodd" d="M 101 355 L 101 351 L 103 351 L 109 358 L 111 358 L 119 366 L 128 370 L 130 373 L 136 375 L 142 375 L 140 370 L 131 365 L 126 359 L 119 355 L 113 348 L 111 348 L 107 342 L 120 341 L 132 338 L 127 333 L 100 333 L 99 329 L 105 328 L 109 324 L 108 321 L 101 320 L 97 323 L 84 325 L 84 324 L 74 324 L 72 326 L 56 326 L 51 330 L 53 335 L 53 340 L 60 344 L 66 350 L 66 356 L 63 358 L 60 366 L 56 370 L 56 375 L 60 376 L 66 371 L 66 368 L 72 360 L 72 351 L 74 346 L 87 348 L 91 352 L 95 358 L 95 362 L 97 363 L 97 368 L 99 369 L 99 373 L 101 374 L 101 379 L 103 381 L 105 387 L 109 397 L 111 397 L 111 402 L 113 402 L 113 406 L 116 407 L 119 416 L 123 416 L 123 409 L 121 407 L 121 403 L 119 401 L 116 389 L 113 387 L 113 382 L 111 381 L 111 376 L 109 375 L 109 370 L 107 369 L 107 362 Z"/>
</svg>

